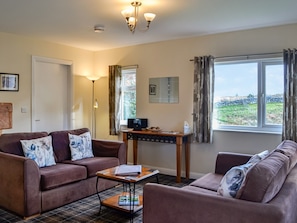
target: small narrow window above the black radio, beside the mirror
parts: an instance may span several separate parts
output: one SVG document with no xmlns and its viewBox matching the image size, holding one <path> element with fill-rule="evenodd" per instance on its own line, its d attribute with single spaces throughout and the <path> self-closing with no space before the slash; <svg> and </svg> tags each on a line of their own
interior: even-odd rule
<svg viewBox="0 0 297 223">
<path fill-rule="evenodd" d="M 121 124 L 136 118 L 136 68 L 122 68 Z"/>
</svg>

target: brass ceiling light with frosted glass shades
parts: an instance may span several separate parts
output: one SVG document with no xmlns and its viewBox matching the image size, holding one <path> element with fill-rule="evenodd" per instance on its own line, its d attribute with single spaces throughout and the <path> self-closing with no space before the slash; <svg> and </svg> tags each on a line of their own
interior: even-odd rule
<svg viewBox="0 0 297 223">
<path fill-rule="evenodd" d="M 139 11 L 139 7 L 141 6 L 141 2 L 131 2 L 131 5 L 133 7 L 123 10 L 122 15 L 126 19 L 126 23 L 128 25 L 129 30 L 132 33 L 134 33 L 138 22 L 138 11 Z M 146 30 L 149 29 L 150 23 L 154 20 L 155 17 L 156 17 L 156 14 L 144 13 L 144 18 L 147 22 Z"/>
</svg>

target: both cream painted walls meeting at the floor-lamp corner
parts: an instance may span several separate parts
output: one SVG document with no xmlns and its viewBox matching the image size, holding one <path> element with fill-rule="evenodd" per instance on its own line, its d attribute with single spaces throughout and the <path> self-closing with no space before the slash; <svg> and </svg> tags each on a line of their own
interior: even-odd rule
<svg viewBox="0 0 297 223">
<path fill-rule="evenodd" d="M 194 56 L 228 56 L 281 52 L 297 45 L 297 24 L 230 32 L 203 37 L 173 40 L 132 47 L 91 52 L 41 40 L 0 33 L 0 72 L 20 74 L 19 92 L 0 92 L 0 102 L 13 103 L 13 129 L 3 133 L 31 130 L 31 57 L 42 56 L 73 61 L 74 64 L 74 128 L 91 127 L 92 82 L 88 75 L 102 76 L 95 82 L 97 138 L 121 139 L 109 136 L 108 127 L 108 65 L 138 64 L 137 116 L 147 117 L 150 126 L 164 130 L 181 131 L 183 122 L 192 123 Z M 178 104 L 152 104 L 148 98 L 150 77 L 178 76 L 180 102 Z M 27 113 L 21 113 L 21 108 Z M 191 176 L 213 171 L 219 151 L 256 153 L 273 149 L 281 141 L 276 134 L 214 132 L 213 144 L 191 144 Z M 128 161 L 132 162 L 132 144 L 129 143 Z M 174 145 L 140 142 L 139 162 L 175 174 Z"/>
</svg>

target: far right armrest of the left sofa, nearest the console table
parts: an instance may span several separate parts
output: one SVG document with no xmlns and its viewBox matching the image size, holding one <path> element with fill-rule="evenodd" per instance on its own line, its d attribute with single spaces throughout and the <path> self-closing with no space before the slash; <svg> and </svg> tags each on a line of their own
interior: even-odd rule
<svg viewBox="0 0 297 223">
<path fill-rule="evenodd" d="M 127 148 L 123 141 L 92 139 L 94 156 L 117 157 L 120 164 L 127 163 Z"/>
</svg>

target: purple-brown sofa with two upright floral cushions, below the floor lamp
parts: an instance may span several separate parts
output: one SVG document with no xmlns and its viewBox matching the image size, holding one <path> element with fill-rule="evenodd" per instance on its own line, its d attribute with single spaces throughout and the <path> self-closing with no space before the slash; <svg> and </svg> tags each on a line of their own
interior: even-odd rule
<svg viewBox="0 0 297 223">
<path fill-rule="evenodd" d="M 79 146 L 81 144 L 90 146 L 89 151 L 93 154 L 73 160 L 74 153 L 70 148 L 75 148 L 75 144 L 71 145 L 70 136 L 75 139 L 78 137 Z M 28 219 L 95 194 L 96 172 L 125 164 L 127 162 L 126 145 L 122 141 L 91 138 L 83 141 L 88 137 L 82 136 L 90 138 L 89 129 L 2 134 L 0 136 L 0 208 Z M 25 143 L 31 144 L 30 149 L 38 151 L 36 149 L 40 146 L 38 143 L 43 143 L 40 139 L 51 141 L 52 150 L 48 149 L 49 146 L 44 150 L 53 153 L 49 159 L 52 163 L 48 166 L 40 167 L 38 160 L 25 156 L 27 155 L 24 150 Z M 33 146 L 32 140 L 37 141 L 38 146 L 35 144 Z M 40 155 L 38 157 L 39 161 L 43 162 L 43 157 L 41 159 Z M 102 191 L 115 185 L 115 182 L 100 179 L 97 189 Z"/>
</svg>

